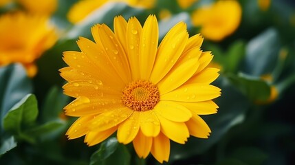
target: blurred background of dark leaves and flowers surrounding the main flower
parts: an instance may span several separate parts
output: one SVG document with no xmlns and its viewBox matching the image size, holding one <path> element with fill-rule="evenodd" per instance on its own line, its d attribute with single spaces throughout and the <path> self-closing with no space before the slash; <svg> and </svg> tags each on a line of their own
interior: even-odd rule
<svg viewBox="0 0 295 165">
<path fill-rule="evenodd" d="M 113 18 L 149 14 L 160 40 L 179 21 L 218 67 L 218 113 L 201 116 L 208 139 L 171 142 L 164 164 L 295 164 L 295 2 L 293 0 L 0 0 L 0 164 L 159 164 L 139 159 L 116 135 L 88 147 L 67 140 L 76 120 L 64 115 L 72 98 L 58 69 L 79 36 Z"/>
</svg>

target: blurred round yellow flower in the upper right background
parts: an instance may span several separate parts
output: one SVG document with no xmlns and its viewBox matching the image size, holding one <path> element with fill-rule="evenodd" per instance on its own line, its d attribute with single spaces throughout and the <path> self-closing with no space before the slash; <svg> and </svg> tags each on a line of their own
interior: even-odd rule
<svg viewBox="0 0 295 165">
<path fill-rule="evenodd" d="M 217 1 L 210 6 L 195 10 L 192 22 L 201 27 L 206 39 L 221 41 L 232 34 L 241 22 L 241 5 L 237 1 Z"/>
</svg>

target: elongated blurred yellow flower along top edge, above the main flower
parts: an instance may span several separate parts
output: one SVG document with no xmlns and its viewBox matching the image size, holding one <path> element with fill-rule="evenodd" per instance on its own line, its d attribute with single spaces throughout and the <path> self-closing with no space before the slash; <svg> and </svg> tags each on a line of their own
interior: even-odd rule
<svg viewBox="0 0 295 165">
<path fill-rule="evenodd" d="M 83 21 L 91 12 L 99 9 L 108 2 L 124 2 L 133 7 L 153 8 L 156 0 L 80 0 L 75 3 L 67 13 L 67 19 L 71 23 Z"/>
</svg>

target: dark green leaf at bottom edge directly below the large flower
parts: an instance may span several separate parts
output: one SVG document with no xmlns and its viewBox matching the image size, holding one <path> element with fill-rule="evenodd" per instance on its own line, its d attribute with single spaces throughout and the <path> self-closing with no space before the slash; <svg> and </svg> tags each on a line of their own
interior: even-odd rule
<svg viewBox="0 0 295 165">
<path fill-rule="evenodd" d="M 116 137 L 102 142 L 98 151 L 91 155 L 90 165 L 122 164 L 129 165 L 131 155 L 124 144 L 119 144 Z"/>
</svg>

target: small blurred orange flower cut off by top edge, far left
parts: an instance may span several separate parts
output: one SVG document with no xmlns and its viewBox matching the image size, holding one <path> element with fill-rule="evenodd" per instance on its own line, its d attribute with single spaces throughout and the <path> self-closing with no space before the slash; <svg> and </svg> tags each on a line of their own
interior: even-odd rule
<svg viewBox="0 0 295 165">
<path fill-rule="evenodd" d="M 36 14 L 47 14 L 50 15 L 56 11 L 58 0 L 17 0 L 26 10 Z"/>
</svg>

